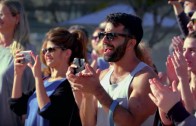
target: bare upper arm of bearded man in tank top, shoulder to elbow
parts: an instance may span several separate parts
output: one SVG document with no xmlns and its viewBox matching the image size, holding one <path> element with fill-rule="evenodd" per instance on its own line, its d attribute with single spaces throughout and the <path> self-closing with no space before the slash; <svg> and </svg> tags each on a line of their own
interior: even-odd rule
<svg viewBox="0 0 196 126">
<path fill-rule="evenodd" d="M 143 71 L 147 69 L 145 68 Z M 135 76 L 129 98 L 129 112 L 134 117 L 135 125 L 141 125 L 156 111 L 155 104 L 148 97 L 148 93 L 150 92 L 148 79 L 157 76 L 154 72 L 143 73 L 143 71 Z"/>
</svg>

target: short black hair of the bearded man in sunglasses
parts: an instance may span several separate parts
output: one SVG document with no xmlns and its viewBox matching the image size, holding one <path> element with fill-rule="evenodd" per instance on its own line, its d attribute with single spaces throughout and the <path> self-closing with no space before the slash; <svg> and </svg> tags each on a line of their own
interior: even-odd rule
<svg viewBox="0 0 196 126">
<path fill-rule="evenodd" d="M 143 37 L 143 28 L 141 18 L 126 13 L 112 13 L 106 17 L 106 22 L 111 22 L 115 27 L 122 24 L 124 26 L 124 31 L 129 35 L 134 36 L 136 39 L 136 46 L 140 43 Z"/>
</svg>

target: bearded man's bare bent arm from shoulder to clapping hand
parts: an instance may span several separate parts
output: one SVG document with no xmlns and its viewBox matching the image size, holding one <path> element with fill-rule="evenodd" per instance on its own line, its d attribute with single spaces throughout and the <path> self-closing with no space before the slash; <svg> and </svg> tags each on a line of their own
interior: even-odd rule
<svg viewBox="0 0 196 126">
<path fill-rule="evenodd" d="M 86 65 L 85 68 L 89 70 L 88 73 L 80 73 L 78 76 L 69 74 L 67 78 L 69 81 L 76 83 L 75 86 L 77 86 L 78 90 L 94 95 L 103 106 L 103 109 L 109 113 L 113 99 L 101 86 L 99 78 L 97 77 L 97 74 L 94 72 L 93 68 L 91 68 L 89 65 Z M 157 75 L 148 67 L 142 71 L 143 72 L 140 72 L 133 80 L 131 87 L 133 90 L 130 90 L 131 95 L 129 98 L 129 108 L 125 109 L 124 107 L 117 105 L 117 107 L 114 109 L 113 119 L 117 125 L 141 125 L 144 120 L 156 110 L 156 106 L 148 97 L 148 93 L 150 93 L 148 79 L 154 77 L 157 78 Z M 90 99 L 86 99 L 86 102 L 88 102 L 88 100 Z M 86 107 L 88 107 L 87 104 Z M 87 109 L 90 109 L 90 107 Z M 85 116 L 91 118 L 87 115 Z M 95 118 L 94 114 L 93 118 Z M 94 124 L 95 123 L 92 125 Z"/>
</svg>

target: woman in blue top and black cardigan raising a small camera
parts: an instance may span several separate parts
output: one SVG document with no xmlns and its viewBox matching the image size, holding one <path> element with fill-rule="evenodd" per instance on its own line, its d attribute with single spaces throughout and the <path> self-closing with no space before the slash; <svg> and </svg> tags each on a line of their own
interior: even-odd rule
<svg viewBox="0 0 196 126">
<path fill-rule="evenodd" d="M 42 79 L 41 63 L 31 52 L 35 63 L 22 64 L 24 56 L 15 58 L 15 78 L 10 107 L 17 115 L 27 114 L 26 126 L 80 126 L 80 116 L 71 86 L 66 79 L 66 71 L 73 59 L 85 58 L 84 34 L 70 33 L 64 28 L 51 29 L 42 45 L 41 60 L 47 66 L 49 75 Z M 21 75 L 28 65 L 35 77 L 35 90 L 21 91 Z"/>
</svg>

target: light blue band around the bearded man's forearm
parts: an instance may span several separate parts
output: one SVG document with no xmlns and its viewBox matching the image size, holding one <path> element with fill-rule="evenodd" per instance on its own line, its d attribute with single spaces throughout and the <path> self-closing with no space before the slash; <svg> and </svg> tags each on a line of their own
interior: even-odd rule
<svg viewBox="0 0 196 126">
<path fill-rule="evenodd" d="M 113 100 L 112 104 L 110 105 L 110 109 L 109 109 L 110 126 L 114 126 L 113 113 L 117 105 L 118 105 L 117 100 Z"/>
</svg>

